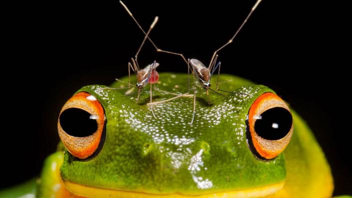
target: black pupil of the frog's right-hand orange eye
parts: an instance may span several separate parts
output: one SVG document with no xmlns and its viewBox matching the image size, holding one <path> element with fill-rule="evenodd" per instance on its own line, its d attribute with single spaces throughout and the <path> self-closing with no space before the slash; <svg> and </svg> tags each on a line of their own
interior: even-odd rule
<svg viewBox="0 0 352 198">
<path fill-rule="evenodd" d="M 292 115 L 282 107 L 273 107 L 261 113 L 254 123 L 256 134 L 264 139 L 277 140 L 286 136 L 291 129 Z"/>
</svg>

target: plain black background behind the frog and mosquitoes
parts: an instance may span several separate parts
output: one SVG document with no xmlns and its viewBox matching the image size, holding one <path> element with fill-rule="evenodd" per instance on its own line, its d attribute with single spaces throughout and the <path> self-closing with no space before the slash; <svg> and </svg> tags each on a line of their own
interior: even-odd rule
<svg viewBox="0 0 352 198">
<path fill-rule="evenodd" d="M 207 64 L 254 0 L 125 4 L 144 28 L 159 16 L 150 37 L 160 48 Z M 107 85 L 126 75 L 143 38 L 114 0 L 25 2 L 8 8 L 0 187 L 38 175 L 59 139 L 60 107 L 83 85 Z M 219 53 L 221 72 L 271 87 L 307 121 L 331 165 L 335 194 L 352 194 L 346 8 L 343 1 L 263 0 Z M 158 71 L 185 72 L 180 57 L 156 53 L 147 43 L 139 63 L 154 59 Z"/>
</svg>

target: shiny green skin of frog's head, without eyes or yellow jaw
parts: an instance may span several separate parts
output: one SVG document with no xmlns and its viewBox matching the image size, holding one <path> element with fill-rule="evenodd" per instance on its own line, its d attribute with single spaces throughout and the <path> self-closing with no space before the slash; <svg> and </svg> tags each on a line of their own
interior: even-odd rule
<svg viewBox="0 0 352 198">
<path fill-rule="evenodd" d="M 121 80 L 127 81 L 127 78 Z M 191 77 L 191 82 L 193 78 Z M 215 89 L 216 76 L 211 84 Z M 220 75 L 221 92 L 197 87 L 192 125 L 192 97 L 153 105 L 149 85 L 136 103 L 136 88 L 116 82 L 111 87 L 89 85 L 79 91 L 94 95 L 105 110 L 106 139 L 96 156 L 87 161 L 64 154 L 64 179 L 88 186 L 149 193 L 200 194 L 273 184 L 284 180 L 282 154 L 262 161 L 250 151 L 245 119 L 251 103 L 271 89 L 232 75 Z M 191 83 L 192 85 L 192 83 Z M 160 73 L 156 87 L 174 93 L 187 91 L 187 75 Z M 127 92 L 127 94 L 125 94 Z M 193 90 L 190 91 L 193 93 Z M 153 90 L 153 101 L 174 95 Z"/>
</svg>

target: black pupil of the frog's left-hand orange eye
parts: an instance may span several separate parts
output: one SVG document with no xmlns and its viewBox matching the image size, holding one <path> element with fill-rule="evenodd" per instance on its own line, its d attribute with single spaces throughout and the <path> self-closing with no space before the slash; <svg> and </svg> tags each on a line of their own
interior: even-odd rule
<svg viewBox="0 0 352 198">
<path fill-rule="evenodd" d="M 86 137 L 93 134 L 98 128 L 91 114 L 80 108 L 67 108 L 60 115 L 61 128 L 69 135 Z"/>
</svg>

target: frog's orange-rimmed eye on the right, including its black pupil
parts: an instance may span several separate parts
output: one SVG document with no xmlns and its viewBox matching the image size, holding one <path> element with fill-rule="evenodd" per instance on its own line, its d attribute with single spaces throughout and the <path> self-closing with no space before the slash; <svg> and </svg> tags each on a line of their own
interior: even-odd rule
<svg viewBox="0 0 352 198">
<path fill-rule="evenodd" d="M 259 158 L 272 159 L 288 145 L 293 131 L 287 104 L 276 94 L 261 94 L 248 112 L 249 142 Z"/>
</svg>

